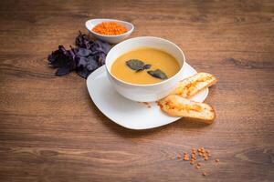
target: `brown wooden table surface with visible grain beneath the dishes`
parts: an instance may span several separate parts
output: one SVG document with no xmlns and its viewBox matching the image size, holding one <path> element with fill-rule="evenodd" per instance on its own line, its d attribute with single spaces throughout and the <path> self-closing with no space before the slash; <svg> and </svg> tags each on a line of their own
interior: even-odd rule
<svg viewBox="0 0 274 182">
<path fill-rule="evenodd" d="M 205 100 L 215 123 L 125 129 L 94 106 L 85 79 L 54 76 L 47 55 L 98 17 L 132 22 L 131 37 L 169 39 L 215 74 Z M 274 180 L 272 0 L 3 0 L 0 24 L 1 182 Z M 199 170 L 174 159 L 192 147 L 211 151 Z"/>
</svg>

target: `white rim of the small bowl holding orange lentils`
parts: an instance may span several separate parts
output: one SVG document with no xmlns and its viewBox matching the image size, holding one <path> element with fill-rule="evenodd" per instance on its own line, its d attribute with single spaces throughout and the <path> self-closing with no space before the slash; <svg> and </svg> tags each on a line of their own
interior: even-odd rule
<svg viewBox="0 0 274 182">
<path fill-rule="evenodd" d="M 101 35 L 101 34 L 98 34 L 96 32 L 94 32 L 92 29 L 90 29 L 88 27 L 88 22 L 92 21 L 92 20 L 102 20 L 102 22 L 104 21 L 110 21 L 110 22 L 119 22 L 119 23 L 123 23 L 123 24 L 127 24 L 127 25 L 130 25 L 131 26 L 131 29 L 126 31 L 125 33 L 121 34 L 121 35 Z M 100 22 L 101 23 L 101 22 Z M 98 24 L 100 24 L 98 23 Z M 98 25 L 96 24 L 96 25 Z M 94 18 L 94 19 L 89 19 L 86 21 L 86 28 L 92 33 L 92 34 L 95 34 L 95 35 L 100 35 L 100 36 L 105 36 L 105 37 L 119 37 L 119 36 L 122 36 L 122 35 L 128 35 L 128 34 L 132 34 L 132 31 L 134 30 L 134 25 L 132 25 L 132 23 L 130 22 L 126 22 L 126 21 L 123 21 L 123 20 L 118 20 L 118 19 L 109 19 L 109 18 Z"/>
</svg>

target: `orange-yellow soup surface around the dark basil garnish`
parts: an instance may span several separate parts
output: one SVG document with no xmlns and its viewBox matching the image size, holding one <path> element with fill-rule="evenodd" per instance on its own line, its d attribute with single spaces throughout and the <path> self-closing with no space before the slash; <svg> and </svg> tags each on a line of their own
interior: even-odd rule
<svg viewBox="0 0 274 182">
<path fill-rule="evenodd" d="M 151 67 L 137 72 L 126 65 L 126 62 L 131 59 L 139 59 L 145 64 L 150 64 Z M 163 81 L 147 73 L 147 71 L 156 69 L 161 69 L 170 78 L 180 70 L 180 65 L 174 56 L 162 50 L 142 47 L 118 57 L 111 66 L 111 74 L 131 84 L 146 85 Z"/>
</svg>

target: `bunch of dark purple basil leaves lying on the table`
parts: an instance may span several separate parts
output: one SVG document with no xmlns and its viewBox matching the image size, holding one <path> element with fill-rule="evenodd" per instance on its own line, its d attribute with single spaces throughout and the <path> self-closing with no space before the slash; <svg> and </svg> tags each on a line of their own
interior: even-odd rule
<svg viewBox="0 0 274 182">
<path fill-rule="evenodd" d="M 56 75 L 65 76 L 76 71 L 79 76 L 87 78 L 91 72 L 105 64 L 105 59 L 111 45 L 100 40 L 93 41 L 89 35 L 79 35 L 75 39 L 77 47 L 66 49 L 63 45 L 48 57 L 48 65 L 58 68 Z"/>
</svg>

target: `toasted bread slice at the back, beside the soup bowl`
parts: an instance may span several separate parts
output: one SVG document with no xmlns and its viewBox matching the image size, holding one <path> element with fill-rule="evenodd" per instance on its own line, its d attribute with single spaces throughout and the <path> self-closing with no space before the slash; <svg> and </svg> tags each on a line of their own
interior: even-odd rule
<svg viewBox="0 0 274 182">
<path fill-rule="evenodd" d="M 206 87 L 216 84 L 216 77 L 208 73 L 197 73 L 179 82 L 178 86 L 171 94 L 190 98 L 195 96 Z"/>
</svg>

